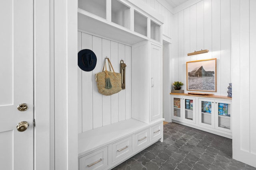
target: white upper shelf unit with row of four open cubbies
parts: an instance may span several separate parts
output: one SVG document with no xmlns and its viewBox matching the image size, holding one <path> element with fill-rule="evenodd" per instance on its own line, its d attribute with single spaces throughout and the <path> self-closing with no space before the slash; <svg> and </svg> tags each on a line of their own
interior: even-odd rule
<svg viewBox="0 0 256 170">
<path fill-rule="evenodd" d="M 138 0 L 78 0 L 78 29 L 129 45 L 162 43 L 163 20 Z"/>
</svg>

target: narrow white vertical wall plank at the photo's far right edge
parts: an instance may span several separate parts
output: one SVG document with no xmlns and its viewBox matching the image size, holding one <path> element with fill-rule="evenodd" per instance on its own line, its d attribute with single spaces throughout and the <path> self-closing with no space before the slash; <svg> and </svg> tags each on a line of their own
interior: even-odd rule
<svg viewBox="0 0 256 170">
<path fill-rule="evenodd" d="M 250 0 L 250 94 L 256 94 L 256 79 L 255 79 L 255 72 L 256 72 L 256 57 L 254 55 L 255 49 L 256 49 L 256 1 Z M 256 154 L 256 135 L 255 130 L 256 129 L 256 114 L 254 114 L 254 104 L 256 103 L 255 95 L 250 95 L 250 151 L 253 154 Z M 253 145 L 254 144 L 254 145 Z"/>
</svg>

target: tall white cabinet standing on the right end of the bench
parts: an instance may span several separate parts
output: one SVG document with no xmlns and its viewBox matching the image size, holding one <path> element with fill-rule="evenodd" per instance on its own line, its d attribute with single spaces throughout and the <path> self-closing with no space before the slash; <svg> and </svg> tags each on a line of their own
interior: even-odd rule
<svg viewBox="0 0 256 170">
<path fill-rule="evenodd" d="M 162 47 L 142 41 L 132 56 L 132 117 L 150 123 L 162 117 Z"/>
</svg>

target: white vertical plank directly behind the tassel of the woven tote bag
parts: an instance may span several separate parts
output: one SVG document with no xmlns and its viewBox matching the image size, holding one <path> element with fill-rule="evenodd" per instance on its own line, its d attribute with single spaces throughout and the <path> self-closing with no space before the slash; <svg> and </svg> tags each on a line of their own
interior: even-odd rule
<svg viewBox="0 0 256 170">
<path fill-rule="evenodd" d="M 110 58 L 110 40 L 102 39 L 102 61 L 104 61 L 106 56 Z M 104 63 L 102 63 L 102 66 L 103 65 Z M 102 120 L 103 126 L 111 124 L 111 97 L 110 96 L 102 95 L 102 119 L 103 119 Z"/>
</svg>

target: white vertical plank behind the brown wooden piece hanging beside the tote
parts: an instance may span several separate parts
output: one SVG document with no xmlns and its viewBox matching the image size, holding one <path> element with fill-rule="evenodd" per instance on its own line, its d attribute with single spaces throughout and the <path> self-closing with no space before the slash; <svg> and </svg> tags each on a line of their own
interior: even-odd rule
<svg viewBox="0 0 256 170">
<path fill-rule="evenodd" d="M 120 61 L 124 60 L 125 63 L 125 45 L 118 43 L 118 60 L 114 68 L 118 69 L 116 72 L 120 72 Z M 119 96 L 119 121 L 125 120 L 125 90 L 121 90 L 118 93 Z"/>
</svg>

